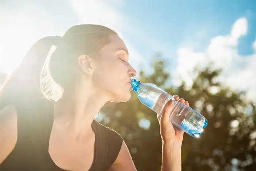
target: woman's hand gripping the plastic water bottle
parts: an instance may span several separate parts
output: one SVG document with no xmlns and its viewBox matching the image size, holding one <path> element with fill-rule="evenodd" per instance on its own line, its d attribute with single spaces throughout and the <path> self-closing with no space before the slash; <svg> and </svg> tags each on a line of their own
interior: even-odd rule
<svg viewBox="0 0 256 171">
<path fill-rule="evenodd" d="M 174 95 L 173 97 L 176 101 L 182 102 L 185 105 L 189 106 L 188 101 L 185 101 L 183 98 L 179 98 L 177 95 Z M 157 118 L 160 124 L 160 133 L 161 133 L 163 142 L 173 141 L 173 140 L 180 140 L 182 142 L 183 140 L 184 131 L 182 131 L 180 128 L 176 127 L 175 125 L 173 125 L 169 120 L 169 115 L 173 109 L 173 105 L 174 105 L 173 100 L 168 101 L 165 107 L 163 108 L 162 115 L 158 116 L 157 114 Z"/>
</svg>

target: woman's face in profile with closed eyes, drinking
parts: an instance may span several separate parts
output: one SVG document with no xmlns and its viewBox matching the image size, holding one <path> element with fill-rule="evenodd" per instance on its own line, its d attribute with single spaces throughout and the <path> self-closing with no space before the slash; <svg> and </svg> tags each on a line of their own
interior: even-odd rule
<svg viewBox="0 0 256 171">
<path fill-rule="evenodd" d="M 110 43 L 101 48 L 94 60 L 93 85 L 106 94 L 109 101 L 123 102 L 131 98 L 131 77 L 135 69 L 128 62 L 128 50 L 117 35 L 110 35 Z"/>
</svg>

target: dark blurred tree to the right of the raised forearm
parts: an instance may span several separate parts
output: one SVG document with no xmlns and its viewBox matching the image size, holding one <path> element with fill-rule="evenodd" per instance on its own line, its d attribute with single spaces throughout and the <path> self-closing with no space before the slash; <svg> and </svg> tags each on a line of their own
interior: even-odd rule
<svg viewBox="0 0 256 171">
<path fill-rule="evenodd" d="M 232 92 L 215 82 L 221 70 L 210 67 L 200 71 L 192 89 L 178 93 L 190 101 L 192 108 L 209 121 L 198 140 L 184 137 L 184 170 L 237 170 L 256 168 L 256 112 L 252 102 L 246 103 L 244 92 Z M 215 88 L 218 91 L 212 92 Z"/>
</svg>

